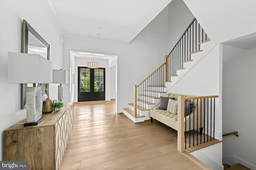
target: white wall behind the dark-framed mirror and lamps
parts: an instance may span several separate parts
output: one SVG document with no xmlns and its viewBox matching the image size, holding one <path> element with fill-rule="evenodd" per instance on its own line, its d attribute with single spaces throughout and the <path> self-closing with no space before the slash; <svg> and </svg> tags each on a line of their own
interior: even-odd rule
<svg viewBox="0 0 256 170">
<path fill-rule="evenodd" d="M 22 20 L 26 20 L 49 44 L 50 61 L 62 68 L 62 42 L 47 1 L 0 1 L 0 160 L 3 160 L 3 131 L 26 118 L 20 109 L 20 84 L 7 83 L 7 53 L 21 51 Z M 50 86 L 50 98 L 57 91 Z"/>
</svg>

